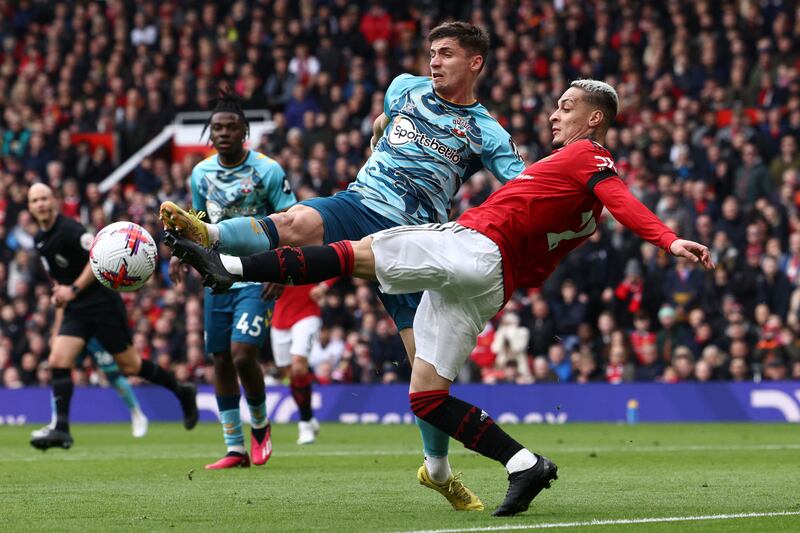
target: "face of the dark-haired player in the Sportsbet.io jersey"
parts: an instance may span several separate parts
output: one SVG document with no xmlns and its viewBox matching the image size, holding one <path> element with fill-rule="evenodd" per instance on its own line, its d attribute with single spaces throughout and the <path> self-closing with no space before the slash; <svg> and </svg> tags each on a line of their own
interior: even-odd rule
<svg viewBox="0 0 800 533">
<path fill-rule="evenodd" d="M 480 72 L 482 64 L 480 55 L 470 54 L 452 37 L 431 43 L 433 88 L 442 96 L 463 91 Z"/>
</svg>

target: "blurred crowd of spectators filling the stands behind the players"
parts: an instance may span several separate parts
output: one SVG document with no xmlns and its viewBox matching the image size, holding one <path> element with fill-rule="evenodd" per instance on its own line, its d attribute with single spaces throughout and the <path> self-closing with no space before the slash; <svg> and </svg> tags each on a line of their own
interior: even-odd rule
<svg viewBox="0 0 800 533">
<path fill-rule="evenodd" d="M 706 274 L 606 217 L 541 290 L 518 291 L 459 380 L 485 383 L 800 379 L 800 11 L 782 2 L 0 1 L 0 386 L 45 384 L 53 309 L 26 212 L 48 183 L 92 229 L 160 233 L 158 205 L 190 205 L 200 156 L 146 158 L 98 183 L 176 113 L 213 107 L 220 84 L 276 128 L 250 140 L 300 199 L 351 182 L 383 90 L 428 70 L 425 36 L 447 18 L 488 28 L 479 100 L 527 162 L 551 150 L 549 113 L 569 81 L 607 81 L 620 176 L 679 235 L 707 244 Z M 788 4 L 788 3 L 787 3 Z M 71 134 L 113 132 L 117 153 Z M 485 171 L 453 215 L 499 184 Z M 179 379 L 210 382 L 202 292 L 167 276 L 126 296 L 134 344 Z M 319 383 L 404 381 L 396 329 L 367 283 L 323 302 L 310 357 Z M 272 368 L 268 348 L 264 366 Z M 86 358 L 78 383 L 102 383 Z"/>
</svg>

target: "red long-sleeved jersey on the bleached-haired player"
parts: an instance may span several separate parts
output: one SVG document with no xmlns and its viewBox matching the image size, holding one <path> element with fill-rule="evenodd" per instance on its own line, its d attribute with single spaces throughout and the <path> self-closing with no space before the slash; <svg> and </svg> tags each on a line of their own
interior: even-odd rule
<svg viewBox="0 0 800 533">
<path fill-rule="evenodd" d="M 505 297 L 538 287 L 567 253 L 594 233 L 605 205 L 623 225 L 664 249 L 677 237 L 617 176 L 611 153 L 584 139 L 529 166 L 458 223 L 500 248 Z"/>
</svg>

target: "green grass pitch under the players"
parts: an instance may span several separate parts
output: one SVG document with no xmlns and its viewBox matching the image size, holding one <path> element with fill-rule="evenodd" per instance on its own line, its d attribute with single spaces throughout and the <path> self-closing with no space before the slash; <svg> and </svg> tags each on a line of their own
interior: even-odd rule
<svg viewBox="0 0 800 533">
<path fill-rule="evenodd" d="M 486 504 L 453 511 L 420 486 L 415 426 L 323 424 L 317 444 L 298 446 L 295 425 L 273 428 L 264 467 L 205 471 L 223 450 L 220 428 L 152 424 L 76 425 L 75 446 L 46 453 L 33 429 L 0 427 L 3 531 L 414 531 L 509 525 L 800 511 L 796 425 L 509 425 L 559 465 L 559 480 L 514 518 L 491 511 L 504 469 L 451 441 L 451 463 Z M 495 529 L 497 528 L 497 529 Z M 635 525 L 601 531 L 800 530 L 800 516 Z M 571 530 L 571 528 L 569 528 Z M 562 530 L 562 529 L 560 529 Z"/>
</svg>

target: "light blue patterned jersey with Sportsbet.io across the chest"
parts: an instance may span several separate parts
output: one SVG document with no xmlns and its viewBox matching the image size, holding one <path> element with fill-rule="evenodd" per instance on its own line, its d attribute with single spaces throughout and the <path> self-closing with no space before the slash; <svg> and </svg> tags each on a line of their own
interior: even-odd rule
<svg viewBox="0 0 800 533">
<path fill-rule="evenodd" d="M 524 170 L 511 135 L 485 107 L 444 100 L 431 78 L 395 78 L 384 113 L 389 125 L 348 189 L 398 224 L 446 222 L 459 187 L 482 168 L 503 183 Z"/>
</svg>

